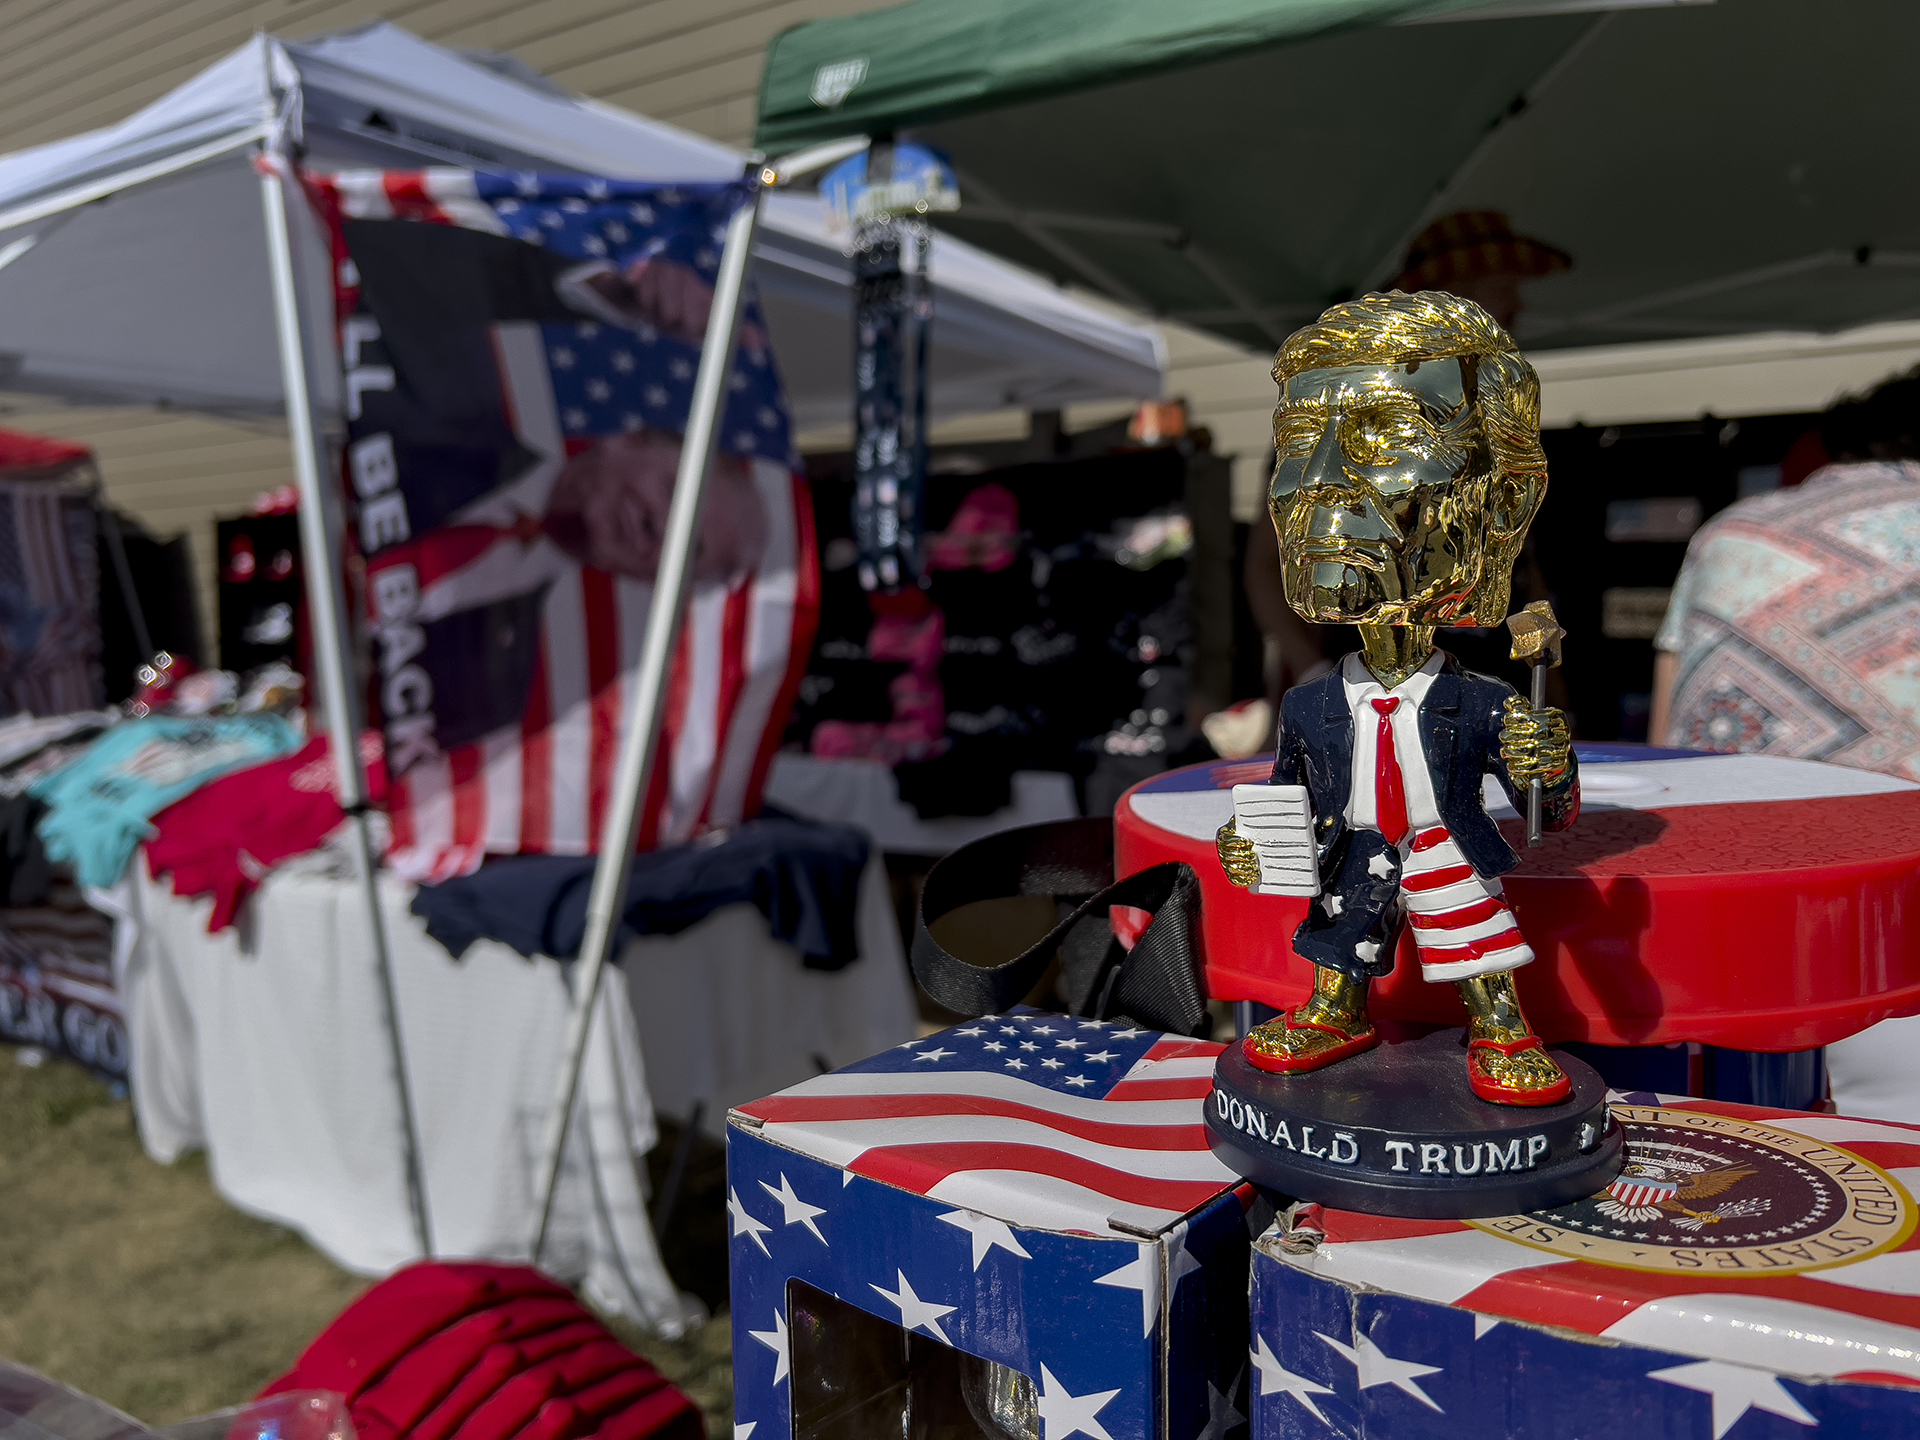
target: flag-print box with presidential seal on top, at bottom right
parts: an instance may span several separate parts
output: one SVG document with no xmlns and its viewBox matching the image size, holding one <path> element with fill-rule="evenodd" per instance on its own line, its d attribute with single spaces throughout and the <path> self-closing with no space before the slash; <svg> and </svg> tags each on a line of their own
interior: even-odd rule
<svg viewBox="0 0 1920 1440">
<path fill-rule="evenodd" d="M 1626 1169 L 1559 1210 L 1267 1231 L 1256 1440 L 1920 1434 L 1920 1127 L 1653 1094 L 1615 1117 Z"/>
</svg>

